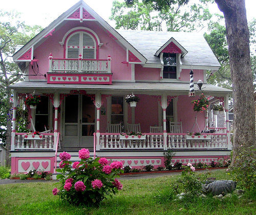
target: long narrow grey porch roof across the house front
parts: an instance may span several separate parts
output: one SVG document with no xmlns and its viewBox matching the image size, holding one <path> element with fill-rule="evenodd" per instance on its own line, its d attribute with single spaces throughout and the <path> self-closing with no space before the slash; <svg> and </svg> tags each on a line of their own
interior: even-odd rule
<svg viewBox="0 0 256 215">
<path fill-rule="evenodd" d="M 46 81 L 24 81 L 20 83 L 15 83 L 10 86 L 11 89 L 15 89 L 19 92 L 30 92 L 33 90 L 38 90 L 40 92 L 53 92 L 53 91 L 70 91 L 70 90 L 92 90 L 100 91 L 103 90 L 104 93 L 107 92 L 120 92 L 121 91 L 133 91 L 134 93 L 151 93 L 158 92 L 167 93 L 167 91 L 172 92 L 172 94 L 187 94 L 189 91 L 189 83 L 167 83 L 167 82 L 113 82 L 112 85 L 105 84 L 48 84 Z M 203 85 L 204 93 L 231 93 L 231 90 L 217 87 L 211 84 Z M 160 91 L 160 92 L 159 92 Z"/>
</svg>

